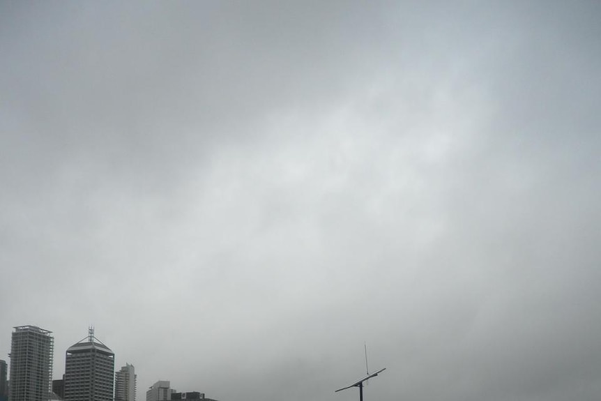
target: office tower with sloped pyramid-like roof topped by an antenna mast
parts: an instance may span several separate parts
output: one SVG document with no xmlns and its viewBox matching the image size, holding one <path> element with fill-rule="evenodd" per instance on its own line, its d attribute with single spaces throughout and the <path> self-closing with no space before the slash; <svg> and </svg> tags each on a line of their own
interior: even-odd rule
<svg viewBox="0 0 601 401">
<path fill-rule="evenodd" d="M 115 354 L 98 338 L 88 337 L 67 349 L 65 401 L 113 401 Z"/>
</svg>

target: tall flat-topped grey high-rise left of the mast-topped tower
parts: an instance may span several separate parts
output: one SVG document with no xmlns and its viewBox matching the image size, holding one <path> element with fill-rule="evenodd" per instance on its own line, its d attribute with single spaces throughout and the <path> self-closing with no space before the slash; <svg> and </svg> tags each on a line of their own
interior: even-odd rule
<svg viewBox="0 0 601 401">
<path fill-rule="evenodd" d="M 17 326 L 10 347 L 10 400 L 47 401 L 52 382 L 52 331 Z"/>
</svg>

